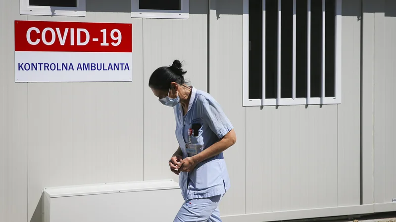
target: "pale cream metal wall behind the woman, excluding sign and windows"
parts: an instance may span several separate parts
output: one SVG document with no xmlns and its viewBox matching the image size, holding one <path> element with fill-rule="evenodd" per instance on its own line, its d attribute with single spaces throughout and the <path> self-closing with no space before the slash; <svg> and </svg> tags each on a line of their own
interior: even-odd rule
<svg viewBox="0 0 396 222">
<path fill-rule="evenodd" d="M 130 0 L 109 2 L 87 0 L 77 18 L 21 16 L 19 1 L 0 1 L 0 222 L 40 222 L 45 186 L 177 180 L 172 109 L 148 88 L 174 59 L 236 128 L 223 216 L 359 205 L 360 112 L 362 201 L 396 198 L 394 1 L 363 0 L 361 42 L 361 0 L 344 0 L 341 105 L 278 109 L 242 107 L 242 0 L 209 0 L 209 14 L 207 0 L 190 0 L 188 20 L 133 19 Z M 14 83 L 14 20 L 132 23 L 133 82 Z"/>
</svg>

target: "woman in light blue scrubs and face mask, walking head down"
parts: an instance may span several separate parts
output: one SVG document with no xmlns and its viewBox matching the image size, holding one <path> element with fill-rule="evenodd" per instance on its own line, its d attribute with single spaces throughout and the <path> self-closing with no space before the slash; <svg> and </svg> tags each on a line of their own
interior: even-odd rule
<svg viewBox="0 0 396 222">
<path fill-rule="evenodd" d="M 182 64 L 155 70 L 148 81 L 159 102 L 173 107 L 179 148 L 169 160 L 185 200 L 174 222 L 221 222 L 219 202 L 230 188 L 223 151 L 236 142 L 234 127 L 208 93 L 184 80 Z"/>
</svg>

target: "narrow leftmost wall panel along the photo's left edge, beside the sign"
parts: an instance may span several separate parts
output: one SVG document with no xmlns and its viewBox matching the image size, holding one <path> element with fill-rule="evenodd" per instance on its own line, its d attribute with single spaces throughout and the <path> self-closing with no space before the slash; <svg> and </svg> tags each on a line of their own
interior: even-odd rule
<svg viewBox="0 0 396 222">
<path fill-rule="evenodd" d="M 19 1 L 0 1 L 0 222 L 26 222 L 27 84 L 14 83 L 14 20 Z"/>
</svg>

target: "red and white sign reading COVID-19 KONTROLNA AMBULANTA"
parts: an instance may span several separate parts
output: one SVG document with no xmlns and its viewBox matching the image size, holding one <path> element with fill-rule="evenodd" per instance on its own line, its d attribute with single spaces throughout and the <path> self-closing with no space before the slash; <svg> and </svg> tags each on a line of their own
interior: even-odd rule
<svg viewBox="0 0 396 222">
<path fill-rule="evenodd" d="M 15 82 L 132 81 L 132 24 L 15 21 Z"/>
</svg>

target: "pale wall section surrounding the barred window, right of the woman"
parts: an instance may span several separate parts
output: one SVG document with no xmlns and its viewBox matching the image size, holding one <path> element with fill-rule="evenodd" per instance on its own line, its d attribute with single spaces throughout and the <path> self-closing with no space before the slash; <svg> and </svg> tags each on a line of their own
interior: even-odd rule
<svg viewBox="0 0 396 222">
<path fill-rule="evenodd" d="M 246 165 L 246 175 L 232 173 L 234 183 L 246 180 L 246 187 L 237 184 L 241 189 L 230 191 L 232 197 L 245 188 L 247 214 L 358 205 L 360 0 L 343 4 L 342 56 L 347 60 L 343 62 L 343 104 L 278 109 L 241 106 L 242 0 L 227 2 L 217 0 L 219 19 L 213 16 L 210 23 L 214 26 L 210 67 L 214 68 L 209 82 L 210 93 L 232 111 L 231 120 L 241 123 L 236 129 L 245 131 L 238 134 L 238 144 L 245 143 L 245 159 L 234 150 L 238 148 L 227 150 L 228 160 L 240 163 L 237 167 Z M 228 205 L 229 201 L 227 214 L 239 214 L 243 208 Z"/>
</svg>

